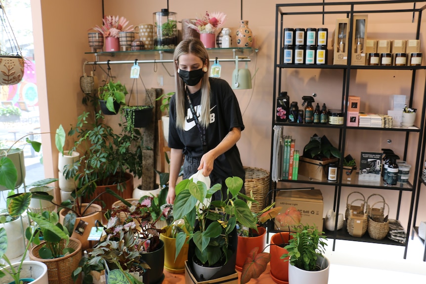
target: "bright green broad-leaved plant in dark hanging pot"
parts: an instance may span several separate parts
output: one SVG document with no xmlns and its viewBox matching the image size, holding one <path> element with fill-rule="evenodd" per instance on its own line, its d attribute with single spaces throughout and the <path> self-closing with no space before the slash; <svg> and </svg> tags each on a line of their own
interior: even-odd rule
<svg viewBox="0 0 426 284">
<path fill-rule="evenodd" d="M 120 106 L 126 104 L 128 91 L 120 81 L 107 81 L 105 85 L 99 87 L 98 93 L 99 104 L 104 115 L 115 115 Z"/>
</svg>

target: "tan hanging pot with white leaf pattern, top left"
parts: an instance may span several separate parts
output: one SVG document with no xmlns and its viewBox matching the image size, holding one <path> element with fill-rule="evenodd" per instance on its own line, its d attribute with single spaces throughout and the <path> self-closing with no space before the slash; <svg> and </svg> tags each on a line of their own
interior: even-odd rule
<svg viewBox="0 0 426 284">
<path fill-rule="evenodd" d="M 14 85 L 22 81 L 24 58 L 22 56 L 0 56 L 0 85 Z"/>
</svg>

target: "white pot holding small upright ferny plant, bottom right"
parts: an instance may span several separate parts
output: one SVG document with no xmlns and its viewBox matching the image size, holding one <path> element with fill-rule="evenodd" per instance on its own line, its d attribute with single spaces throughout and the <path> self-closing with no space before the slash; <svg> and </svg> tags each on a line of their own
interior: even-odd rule
<svg viewBox="0 0 426 284">
<path fill-rule="evenodd" d="M 325 268 L 320 271 L 306 271 L 289 264 L 289 284 L 327 284 L 330 261 L 325 256 L 318 256 L 316 264 Z"/>
</svg>

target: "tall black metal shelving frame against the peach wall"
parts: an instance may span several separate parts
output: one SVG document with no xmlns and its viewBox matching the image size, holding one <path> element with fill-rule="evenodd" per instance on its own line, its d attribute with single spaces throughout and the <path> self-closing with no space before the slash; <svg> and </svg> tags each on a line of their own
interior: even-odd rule
<svg viewBox="0 0 426 284">
<path fill-rule="evenodd" d="M 412 15 L 412 23 L 415 23 L 415 31 L 411 31 L 412 33 L 415 33 L 416 39 L 420 39 L 420 32 L 425 32 L 425 29 L 422 29 L 422 13 L 426 8 L 426 0 L 421 1 L 413 1 L 413 0 L 386 0 L 386 1 L 360 1 L 360 2 L 316 2 L 316 3 L 288 3 L 288 4 L 276 4 L 276 18 L 275 18 L 275 55 L 274 55 L 274 84 L 273 84 L 273 108 L 272 108 L 272 126 L 273 128 L 275 125 L 282 125 L 284 129 L 289 129 L 288 127 L 299 127 L 300 130 L 298 131 L 308 131 L 309 128 L 313 129 L 323 129 L 323 130 L 330 130 L 335 131 L 333 133 L 339 133 L 339 149 L 341 151 L 341 157 L 345 157 L 345 155 L 349 154 L 346 153 L 348 151 L 345 151 L 345 145 L 346 145 L 346 136 L 348 131 L 392 131 L 397 133 L 398 135 L 404 135 L 405 136 L 405 143 L 403 146 L 403 157 L 401 157 L 403 160 L 406 160 L 407 153 L 408 153 L 408 147 L 409 143 L 414 143 L 417 145 L 417 149 L 419 151 L 422 151 L 422 153 L 425 152 L 425 139 L 424 139 L 424 126 L 425 126 L 425 109 L 426 109 L 426 84 L 423 90 L 423 98 L 422 101 L 419 103 L 417 101 L 418 107 L 418 115 L 421 116 L 420 125 L 416 125 L 417 127 L 414 129 L 407 129 L 407 128 L 370 128 L 370 127 L 349 127 L 346 126 L 346 116 L 347 116 L 347 106 L 345 105 L 345 102 L 348 101 L 349 97 L 349 86 L 351 84 L 356 84 L 353 81 L 351 81 L 351 77 L 355 77 L 357 70 L 374 70 L 375 72 L 392 72 L 392 71 L 398 71 L 398 72 L 410 72 L 410 74 L 407 76 L 409 77 L 411 75 L 411 87 L 410 87 L 410 95 L 409 95 L 409 104 L 410 106 L 413 103 L 413 98 L 415 96 L 415 84 L 416 84 L 416 74 L 419 74 L 419 71 L 424 72 L 426 69 L 426 66 L 352 66 L 350 65 L 351 62 L 351 52 L 348 52 L 347 56 L 347 65 L 302 65 L 302 64 L 282 64 L 281 59 L 283 58 L 282 55 L 282 47 L 283 47 L 283 36 L 284 32 L 283 29 L 285 27 L 294 27 L 292 22 L 286 22 L 286 17 L 288 16 L 298 16 L 298 15 L 312 15 L 312 18 L 314 18 L 314 15 L 320 15 L 322 16 L 322 23 L 314 22 L 311 23 L 310 20 L 307 20 L 304 24 L 305 26 L 302 28 L 308 28 L 311 26 L 316 25 L 318 27 L 319 25 L 324 24 L 324 19 L 327 17 L 332 17 L 332 19 L 337 18 L 350 18 L 352 19 L 355 14 L 376 14 L 376 13 L 383 13 L 388 15 L 389 20 L 391 21 L 391 17 L 396 17 L 395 15 L 401 15 L 401 13 L 409 13 Z M 315 20 L 317 20 L 318 17 L 315 17 Z M 410 18 L 411 19 L 411 18 Z M 312 21 L 315 21 L 312 20 Z M 329 29 L 329 34 L 331 34 L 332 31 Z M 353 22 L 349 21 L 349 33 L 348 33 L 348 46 L 347 50 L 351 50 L 352 45 L 354 44 L 352 39 L 353 34 Z M 368 30 L 367 30 L 367 38 L 368 38 Z M 332 50 L 330 50 L 330 46 L 328 47 L 329 56 L 332 56 Z M 335 72 L 336 77 L 341 78 L 341 110 L 343 113 L 344 121 L 343 125 L 330 125 L 330 124 L 298 124 L 298 123 L 287 123 L 287 122 L 275 122 L 275 108 L 276 108 L 276 99 L 278 94 L 281 91 L 286 91 L 286 89 L 283 88 L 282 84 L 282 78 L 283 78 L 283 70 L 287 69 L 293 69 L 298 70 L 298 72 L 302 73 L 306 69 L 321 69 L 321 70 L 328 70 L 327 72 Z M 355 74 L 355 75 L 353 75 Z M 340 80 L 340 79 L 339 79 Z M 421 91 L 420 91 L 421 92 Z M 419 91 L 416 91 L 416 99 L 418 99 L 421 95 Z M 291 96 L 291 94 L 290 94 Z M 336 95 L 336 99 L 338 99 Z M 290 101 L 293 101 L 292 99 Z M 327 103 L 327 101 L 326 101 Z M 294 128 L 293 128 L 294 129 Z M 284 130 L 285 131 L 285 130 Z M 318 130 L 319 131 L 319 130 Z M 273 153 L 273 132 L 272 131 L 272 139 L 271 139 L 271 153 Z M 383 133 L 389 133 L 389 132 L 383 132 Z M 414 142 L 413 142 L 414 141 Z M 422 142 L 423 141 L 423 142 Z M 362 141 L 360 141 L 362 143 Z M 411 144 L 410 144 L 411 145 Z M 402 148 L 402 147 L 401 147 Z M 402 152 L 402 149 L 400 149 Z M 302 155 L 302 153 L 300 153 Z M 270 170 L 272 172 L 272 157 L 271 155 L 271 163 L 270 163 Z M 358 156 L 359 157 L 359 156 Z M 342 181 L 342 162 L 340 164 L 340 170 L 338 173 L 338 181 L 337 182 L 328 182 L 328 181 L 316 181 L 312 179 L 308 179 L 307 177 L 300 176 L 298 177 L 298 180 L 279 180 L 279 182 L 285 182 L 286 184 L 290 184 L 288 190 L 294 189 L 297 186 L 300 186 L 300 184 L 309 184 L 309 185 L 322 185 L 322 186 L 329 186 L 331 190 L 334 189 L 334 210 L 335 212 L 339 212 L 339 208 L 341 204 L 344 204 L 346 200 L 341 199 L 341 192 L 342 188 L 373 188 L 373 189 L 381 189 L 381 190 L 393 190 L 398 192 L 398 203 L 392 204 L 395 205 L 397 208 L 396 210 L 396 219 L 399 218 L 400 214 L 400 207 L 401 207 L 401 201 L 402 201 L 402 194 L 404 192 L 411 193 L 411 199 L 410 199 L 410 208 L 409 208 L 409 216 L 408 216 L 408 222 L 407 224 L 404 224 L 407 226 L 407 235 L 406 235 L 406 242 L 405 243 L 398 243 L 391 241 L 387 238 L 383 240 L 375 240 L 368 236 L 366 233 L 361 238 L 355 238 L 350 236 L 346 231 L 346 226 L 344 224 L 343 228 L 339 231 L 327 231 L 325 230 L 326 235 L 329 238 L 333 239 L 333 250 L 335 249 L 336 240 L 349 240 L 349 241 L 357 241 L 357 242 L 368 242 L 368 243 L 382 243 L 382 244 L 390 244 L 390 245 L 398 245 L 398 246 L 404 246 L 404 258 L 407 256 L 407 248 L 408 248 L 408 240 L 410 235 L 410 229 L 412 225 L 412 212 L 414 208 L 415 203 L 415 197 L 416 197 L 416 189 L 420 189 L 421 181 L 419 181 L 419 168 L 421 165 L 420 158 L 422 157 L 422 154 L 417 155 L 415 158 L 415 163 L 413 163 L 413 166 L 411 168 L 411 174 L 414 175 L 414 181 L 415 185 L 413 186 L 411 183 L 397 183 L 396 186 L 386 186 L 381 182 L 378 183 L 372 183 L 372 182 L 358 182 L 358 178 L 356 178 L 355 181 L 346 182 Z M 358 177 L 358 175 L 357 175 Z M 419 181 L 419 182 L 417 182 Z M 417 182 L 417 185 L 416 185 Z M 271 181 L 271 190 L 274 191 L 277 189 L 277 183 Z M 276 193 L 276 192 L 274 192 Z M 419 193 L 417 193 L 417 196 L 419 196 Z M 418 198 L 416 203 L 416 212 L 417 212 L 417 205 L 418 205 Z M 414 219 L 415 220 L 415 219 Z M 337 228 L 337 221 L 335 228 Z M 276 232 L 273 228 L 269 228 L 269 232 Z M 426 257 L 426 246 L 425 246 L 425 257 Z"/>
</svg>

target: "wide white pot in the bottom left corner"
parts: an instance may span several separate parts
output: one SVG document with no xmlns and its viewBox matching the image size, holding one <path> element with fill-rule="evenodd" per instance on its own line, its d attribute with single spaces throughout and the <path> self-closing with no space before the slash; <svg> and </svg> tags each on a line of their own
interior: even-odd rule
<svg viewBox="0 0 426 284">
<path fill-rule="evenodd" d="M 19 266 L 18 263 L 13 263 L 13 267 L 17 269 Z M 24 261 L 22 264 L 22 270 L 20 274 L 20 278 L 32 278 L 34 279 L 31 284 L 48 284 L 47 277 L 47 266 L 40 261 L 28 260 Z M 0 278 L 0 283 L 10 283 L 13 279 L 9 275 L 5 275 Z"/>
</svg>

